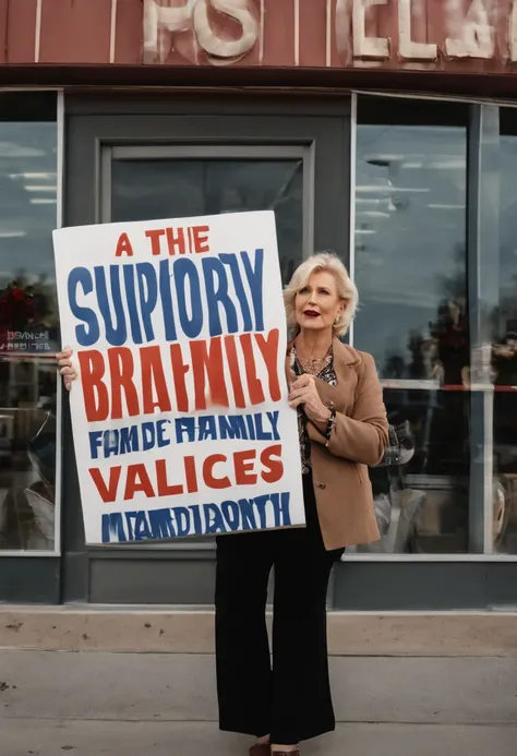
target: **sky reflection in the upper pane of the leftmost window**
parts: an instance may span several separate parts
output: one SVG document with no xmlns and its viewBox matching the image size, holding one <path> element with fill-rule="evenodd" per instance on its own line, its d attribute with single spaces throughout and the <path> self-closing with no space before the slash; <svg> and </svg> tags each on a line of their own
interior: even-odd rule
<svg viewBox="0 0 517 756">
<path fill-rule="evenodd" d="M 56 352 L 56 123 L 0 122 L 0 352 Z"/>
</svg>

